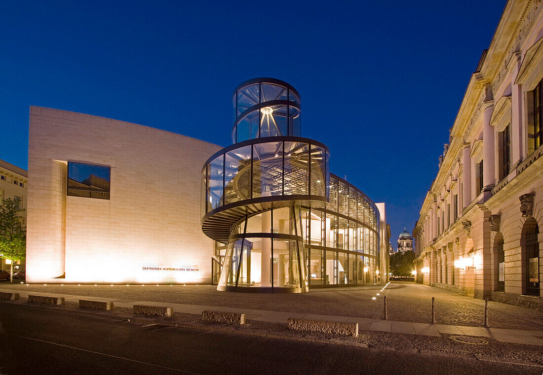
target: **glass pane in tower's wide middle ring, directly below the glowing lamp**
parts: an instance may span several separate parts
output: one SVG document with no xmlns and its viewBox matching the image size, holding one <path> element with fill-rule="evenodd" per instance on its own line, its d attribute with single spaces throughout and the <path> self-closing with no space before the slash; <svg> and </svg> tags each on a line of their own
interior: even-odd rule
<svg viewBox="0 0 543 375">
<path fill-rule="evenodd" d="M 253 146 L 252 197 L 282 194 L 283 143 L 269 142 Z"/>
</svg>

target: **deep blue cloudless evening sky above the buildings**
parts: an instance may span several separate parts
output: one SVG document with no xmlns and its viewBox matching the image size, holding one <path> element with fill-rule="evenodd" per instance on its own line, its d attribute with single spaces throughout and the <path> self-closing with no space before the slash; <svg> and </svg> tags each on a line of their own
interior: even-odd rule
<svg viewBox="0 0 543 375">
<path fill-rule="evenodd" d="M 298 89 L 302 135 L 330 147 L 332 172 L 386 202 L 396 248 L 505 4 L 2 2 L 0 159 L 27 169 L 30 105 L 227 146 L 233 89 L 275 77 Z"/>
</svg>

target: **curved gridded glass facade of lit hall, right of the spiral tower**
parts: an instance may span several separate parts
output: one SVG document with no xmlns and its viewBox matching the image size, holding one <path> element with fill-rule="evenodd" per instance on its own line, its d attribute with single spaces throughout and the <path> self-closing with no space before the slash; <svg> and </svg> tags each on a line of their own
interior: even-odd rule
<svg viewBox="0 0 543 375">
<path fill-rule="evenodd" d="M 330 176 L 330 203 L 306 208 L 307 275 L 310 287 L 363 285 L 377 281 L 379 213 L 364 193 Z"/>
</svg>

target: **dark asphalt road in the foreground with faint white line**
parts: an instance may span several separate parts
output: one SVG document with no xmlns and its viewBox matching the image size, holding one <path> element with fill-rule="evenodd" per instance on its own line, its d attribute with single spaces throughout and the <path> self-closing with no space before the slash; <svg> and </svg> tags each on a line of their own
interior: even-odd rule
<svg viewBox="0 0 543 375">
<path fill-rule="evenodd" d="M 0 374 L 541 374 L 509 365 L 212 333 L 0 302 Z"/>
</svg>

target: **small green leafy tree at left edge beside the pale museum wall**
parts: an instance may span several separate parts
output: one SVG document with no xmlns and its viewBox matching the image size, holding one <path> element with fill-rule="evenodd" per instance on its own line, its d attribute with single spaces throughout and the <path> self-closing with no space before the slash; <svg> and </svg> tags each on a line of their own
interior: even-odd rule
<svg viewBox="0 0 543 375">
<path fill-rule="evenodd" d="M 27 231 L 21 228 L 19 212 L 21 202 L 18 199 L 4 199 L 0 206 L 0 257 L 11 261 L 10 281 L 13 282 L 13 263 L 26 256 Z"/>
</svg>

